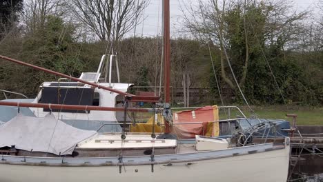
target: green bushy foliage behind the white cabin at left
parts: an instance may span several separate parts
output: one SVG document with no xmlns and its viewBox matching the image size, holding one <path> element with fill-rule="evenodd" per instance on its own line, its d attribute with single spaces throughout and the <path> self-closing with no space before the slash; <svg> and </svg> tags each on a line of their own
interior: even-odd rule
<svg viewBox="0 0 323 182">
<path fill-rule="evenodd" d="M 21 42 L 21 54 L 16 58 L 79 77 L 86 64 L 78 59 L 81 45 L 73 39 L 74 32 L 74 26 L 65 23 L 59 17 L 50 15 L 46 17 L 43 27 L 32 34 L 26 34 Z M 20 65 L 8 67 L 8 63 L 5 63 L 3 68 L 6 69 L 6 74 L 1 74 L 3 80 L 14 82 L 14 84 L 6 85 L 6 89 L 27 95 L 35 96 L 37 93 L 35 90 L 43 81 L 58 79 L 51 74 Z"/>
</svg>

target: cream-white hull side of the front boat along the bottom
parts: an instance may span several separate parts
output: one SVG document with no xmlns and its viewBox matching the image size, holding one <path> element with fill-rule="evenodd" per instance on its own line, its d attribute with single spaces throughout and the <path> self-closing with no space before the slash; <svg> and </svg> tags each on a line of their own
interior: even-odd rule
<svg viewBox="0 0 323 182">
<path fill-rule="evenodd" d="M 0 163 L 1 182 L 286 181 L 289 147 L 179 163 L 119 166 L 37 166 Z"/>
</svg>

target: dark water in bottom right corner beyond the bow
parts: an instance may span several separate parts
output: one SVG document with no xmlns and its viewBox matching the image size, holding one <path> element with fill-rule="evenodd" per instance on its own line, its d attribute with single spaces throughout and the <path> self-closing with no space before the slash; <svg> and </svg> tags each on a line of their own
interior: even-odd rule
<svg viewBox="0 0 323 182">
<path fill-rule="evenodd" d="M 290 165 L 289 169 L 291 178 L 288 181 L 323 182 L 323 154 L 304 153 L 297 164 Z"/>
</svg>

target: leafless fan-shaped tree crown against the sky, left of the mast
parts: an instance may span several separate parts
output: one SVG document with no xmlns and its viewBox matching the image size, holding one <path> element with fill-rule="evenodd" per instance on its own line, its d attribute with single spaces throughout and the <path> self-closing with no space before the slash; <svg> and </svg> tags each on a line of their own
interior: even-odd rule
<svg viewBox="0 0 323 182">
<path fill-rule="evenodd" d="M 71 0 L 72 13 L 99 39 L 119 41 L 142 20 L 149 0 Z"/>
</svg>

